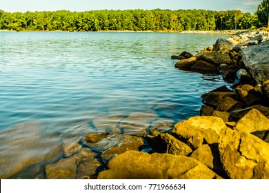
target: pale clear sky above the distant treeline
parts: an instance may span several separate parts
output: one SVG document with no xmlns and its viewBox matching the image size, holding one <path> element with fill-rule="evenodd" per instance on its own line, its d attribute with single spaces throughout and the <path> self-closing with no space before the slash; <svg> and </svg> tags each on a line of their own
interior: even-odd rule
<svg viewBox="0 0 269 193">
<path fill-rule="evenodd" d="M 0 0 L 0 10 L 26 11 L 86 11 L 127 9 L 170 10 L 241 10 L 253 14 L 262 0 Z"/>
</svg>

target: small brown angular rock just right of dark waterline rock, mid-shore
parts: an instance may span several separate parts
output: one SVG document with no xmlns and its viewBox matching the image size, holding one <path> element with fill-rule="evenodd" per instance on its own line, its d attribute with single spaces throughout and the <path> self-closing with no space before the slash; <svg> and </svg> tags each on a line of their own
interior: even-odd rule
<svg viewBox="0 0 269 193">
<path fill-rule="evenodd" d="M 218 111 L 226 111 L 231 112 L 234 110 L 239 110 L 243 108 L 243 104 L 235 101 L 235 99 L 232 99 L 231 97 L 224 97 L 221 103 L 217 106 L 216 110 Z"/>
</svg>

